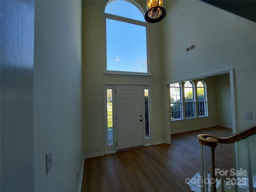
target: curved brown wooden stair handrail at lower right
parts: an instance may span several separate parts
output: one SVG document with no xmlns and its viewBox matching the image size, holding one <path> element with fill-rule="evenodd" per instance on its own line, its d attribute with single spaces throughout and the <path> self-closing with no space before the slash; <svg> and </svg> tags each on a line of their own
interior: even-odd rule
<svg viewBox="0 0 256 192">
<path fill-rule="evenodd" d="M 256 125 L 250 126 L 244 130 L 236 132 L 229 137 L 219 137 L 211 134 L 200 134 L 197 136 L 198 141 L 206 146 L 216 147 L 218 143 L 234 143 L 256 134 Z"/>
</svg>

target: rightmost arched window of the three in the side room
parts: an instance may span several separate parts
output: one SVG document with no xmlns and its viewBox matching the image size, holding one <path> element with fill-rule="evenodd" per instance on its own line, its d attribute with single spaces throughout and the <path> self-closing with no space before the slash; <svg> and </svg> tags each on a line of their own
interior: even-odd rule
<svg viewBox="0 0 256 192">
<path fill-rule="evenodd" d="M 198 116 L 206 116 L 206 86 L 202 81 L 198 81 L 197 85 L 197 102 L 198 102 Z"/>
</svg>

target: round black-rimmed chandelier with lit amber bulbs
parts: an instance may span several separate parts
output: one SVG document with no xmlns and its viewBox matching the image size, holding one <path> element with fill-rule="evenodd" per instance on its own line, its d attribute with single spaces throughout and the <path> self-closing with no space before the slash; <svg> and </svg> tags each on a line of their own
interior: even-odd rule
<svg viewBox="0 0 256 192">
<path fill-rule="evenodd" d="M 149 23 L 161 21 L 166 16 L 166 10 L 163 8 L 163 0 L 147 0 L 147 12 L 145 20 Z"/>
</svg>

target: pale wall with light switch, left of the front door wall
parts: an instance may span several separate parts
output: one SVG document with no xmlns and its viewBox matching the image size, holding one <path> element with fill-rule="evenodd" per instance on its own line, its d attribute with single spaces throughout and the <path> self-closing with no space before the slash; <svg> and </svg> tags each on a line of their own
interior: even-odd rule
<svg viewBox="0 0 256 192">
<path fill-rule="evenodd" d="M 74 192 L 82 163 L 81 1 L 35 2 L 35 192 Z M 52 169 L 46 176 L 46 152 Z"/>
</svg>

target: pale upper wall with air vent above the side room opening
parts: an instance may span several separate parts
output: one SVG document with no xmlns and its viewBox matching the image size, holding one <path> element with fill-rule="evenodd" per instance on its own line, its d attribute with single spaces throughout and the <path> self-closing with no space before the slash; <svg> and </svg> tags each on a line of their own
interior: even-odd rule
<svg viewBox="0 0 256 192">
<path fill-rule="evenodd" d="M 165 1 L 164 82 L 234 68 L 237 130 L 256 123 L 256 23 L 200 1 Z M 196 49 L 186 48 L 196 43 Z M 244 111 L 252 111 L 246 120 Z M 189 121 L 187 121 L 189 126 Z"/>
</svg>

